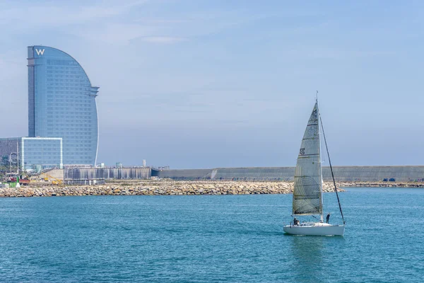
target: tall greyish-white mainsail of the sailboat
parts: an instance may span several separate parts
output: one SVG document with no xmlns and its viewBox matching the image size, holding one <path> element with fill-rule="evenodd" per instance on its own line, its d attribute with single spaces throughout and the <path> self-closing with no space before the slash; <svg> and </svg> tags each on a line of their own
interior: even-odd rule
<svg viewBox="0 0 424 283">
<path fill-rule="evenodd" d="M 319 156 L 318 103 L 307 122 L 300 146 L 293 190 L 293 214 L 322 214 L 322 171 Z"/>
</svg>

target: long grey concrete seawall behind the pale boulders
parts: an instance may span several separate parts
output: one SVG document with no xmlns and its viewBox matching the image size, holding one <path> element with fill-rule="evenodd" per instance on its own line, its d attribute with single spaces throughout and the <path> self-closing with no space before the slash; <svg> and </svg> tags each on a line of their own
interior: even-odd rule
<svg viewBox="0 0 424 283">
<path fill-rule="evenodd" d="M 293 181 L 294 167 L 253 167 L 182 169 L 158 171 L 154 168 L 65 168 L 47 171 L 54 178 L 72 180 L 124 180 L 153 177 L 172 180 L 252 180 Z M 331 181 L 329 167 L 323 167 L 324 181 Z M 335 166 L 337 182 L 424 182 L 424 166 Z"/>
</svg>

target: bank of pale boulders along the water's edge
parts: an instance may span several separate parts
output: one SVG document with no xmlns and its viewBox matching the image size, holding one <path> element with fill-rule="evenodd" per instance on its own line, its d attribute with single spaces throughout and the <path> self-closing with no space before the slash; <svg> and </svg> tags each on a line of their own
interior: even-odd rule
<svg viewBox="0 0 424 283">
<path fill-rule="evenodd" d="M 112 180 L 105 185 L 46 185 L 0 188 L 0 197 L 58 197 L 83 195 L 267 195 L 291 194 L 293 182 L 225 180 Z M 343 187 L 424 187 L 424 183 L 338 182 Z M 324 182 L 323 192 L 334 192 Z"/>
</svg>

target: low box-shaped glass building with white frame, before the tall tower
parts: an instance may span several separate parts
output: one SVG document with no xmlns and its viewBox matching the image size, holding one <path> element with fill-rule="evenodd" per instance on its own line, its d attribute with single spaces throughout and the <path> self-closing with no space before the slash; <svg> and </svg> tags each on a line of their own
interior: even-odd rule
<svg viewBox="0 0 424 283">
<path fill-rule="evenodd" d="M 19 161 L 19 168 L 62 168 L 62 139 L 57 137 L 14 137 L 0 139 L 1 163 Z"/>
</svg>

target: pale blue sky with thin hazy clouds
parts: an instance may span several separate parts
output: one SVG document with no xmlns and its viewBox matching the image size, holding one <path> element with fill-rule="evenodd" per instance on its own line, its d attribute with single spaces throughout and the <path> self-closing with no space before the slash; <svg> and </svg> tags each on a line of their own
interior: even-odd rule
<svg viewBox="0 0 424 283">
<path fill-rule="evenodd" d="M 99 163 L 295 166 L 319 91 L 334 166 L 423 165 L 423 35 L 423 1 L 0 0 L 0 136 L 45 45 L 100 86 Z"/>
</svg>

